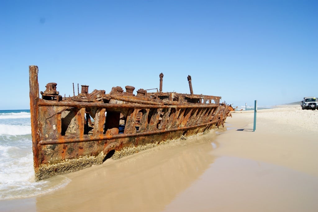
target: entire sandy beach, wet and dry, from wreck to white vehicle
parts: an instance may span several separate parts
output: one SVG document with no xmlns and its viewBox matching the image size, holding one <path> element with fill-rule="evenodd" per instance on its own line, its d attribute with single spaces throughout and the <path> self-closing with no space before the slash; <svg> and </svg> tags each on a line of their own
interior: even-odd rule
<svg viewBox="0 0 318 212">
<path fill-rule="evenodd" d="M 225 128 L 67 174 L 0 211 L 317 211 L 318 111 L 232 112 Z M 60 177 L 53 177 L 60 180 Z"/>
</svg>

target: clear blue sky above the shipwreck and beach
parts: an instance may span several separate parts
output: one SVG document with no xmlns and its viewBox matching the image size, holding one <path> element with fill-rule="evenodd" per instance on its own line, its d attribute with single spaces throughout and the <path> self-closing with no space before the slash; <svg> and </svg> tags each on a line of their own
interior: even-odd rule
<svg viewBox="0 0 318 212">
<path fill-rule="evenodd" d="M 317 96 L 318 1 L 0 1 L 0 109 L 57 83 L 221 96 L 234 106 Z M 77 89 L 76 89 L 77 90 Z M 76 92 L 77 93 L 77 92 Z"/>
</svg>

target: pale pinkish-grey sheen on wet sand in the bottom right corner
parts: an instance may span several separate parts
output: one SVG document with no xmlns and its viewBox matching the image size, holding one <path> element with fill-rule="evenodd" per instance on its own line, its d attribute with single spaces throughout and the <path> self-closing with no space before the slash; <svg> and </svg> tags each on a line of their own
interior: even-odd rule
<svg viewBox="0 0 318 212">
<path fill-rule="evenodd" d="M 218 157 L 162 212 L 316 212 L 318 179 L 239 157 Z"/>
</svg>

